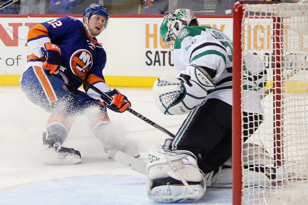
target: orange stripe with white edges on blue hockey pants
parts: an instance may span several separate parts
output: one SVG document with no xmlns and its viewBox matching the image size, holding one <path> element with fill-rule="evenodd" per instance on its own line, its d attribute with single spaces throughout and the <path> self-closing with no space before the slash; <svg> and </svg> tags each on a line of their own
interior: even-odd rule
<svg viewBox="0 0 308 205">
<path fill-rule="evenodd" d="M 37 77 L 39 78 L 39 81 L 43 87 L 43 90 L 46 94 L 46 97 L 48 99 L 48 101 L 51 103 L 55 102 L 57 100 L 57 96 L 55 95 L 55 91 L 52 88 L 47 75 L 45 74 L 45 72 L 43 72 L 43 68 L 39 67 L 39 66 L 33 66 L 34 69 L 34 73 L 37 75 Z"/>
</svg>

